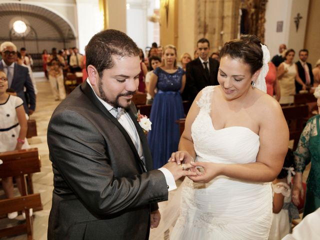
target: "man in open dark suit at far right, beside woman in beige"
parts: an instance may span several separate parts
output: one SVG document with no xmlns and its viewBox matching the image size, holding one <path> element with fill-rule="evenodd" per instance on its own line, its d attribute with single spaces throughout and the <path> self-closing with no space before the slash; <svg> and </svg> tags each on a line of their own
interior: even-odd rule
<svg viewBox="0 0 320 240">
<path fill-rule="evenodd" d="M 307 49 L 299 50 L 299 60 L 295 62 L 298 68 L 298 74 L 301 80 L 306 85 L 306 88 L 310 88 L 313 85 L 313 73 L 312 67 L 309 62 L 306 62 L 308 59 L 309 51 Z M 301 84 L 295 81 L 295 92 L 299 93 L 299 90 L 302 89 Z"/>
</svg>

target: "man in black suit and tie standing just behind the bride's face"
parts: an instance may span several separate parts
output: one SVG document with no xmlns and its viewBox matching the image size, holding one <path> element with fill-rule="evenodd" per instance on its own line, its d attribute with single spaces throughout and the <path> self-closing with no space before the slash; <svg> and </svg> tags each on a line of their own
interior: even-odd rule
<svg viewBox="0 0 320 240">
<path fill-rule="evenodd" d="M 201 38 L 196 44 L 199 56 L 186 65 L 186 84 L 183 94 L 183 98 L 189 100 L 190 104 L 203 87 L 219 84 L 217 80 L 219 62 L 209 57 L 208 39 Z"/>
</svg>

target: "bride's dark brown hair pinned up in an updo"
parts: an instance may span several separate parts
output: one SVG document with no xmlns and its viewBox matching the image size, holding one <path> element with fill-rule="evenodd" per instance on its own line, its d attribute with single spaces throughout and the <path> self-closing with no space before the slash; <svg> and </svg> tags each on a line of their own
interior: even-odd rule
<svg viewBox="0 0 320 240">
<path fill-rule="evenodd" d="M 220 59 L 224 55 L 241 59 L 250 66 L 250 72 L 253 74 L 263 65 L 263 52 L 260 42 L 260 39 L 255 35 L 242 35 L 240 39 L 233 39 L 224 44 L 220 51 Z"/>
</svg>

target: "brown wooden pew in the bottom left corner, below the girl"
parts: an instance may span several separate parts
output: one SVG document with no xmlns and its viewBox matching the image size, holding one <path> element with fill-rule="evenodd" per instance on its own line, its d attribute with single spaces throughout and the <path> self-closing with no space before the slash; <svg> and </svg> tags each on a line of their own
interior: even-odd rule
<svg viewBox="0 0 320 240">
<path fill-rule="evenodd" d="M 25 174 L 39 172 L 40 160 L 37 148 L 6 151 L 0 153 L 0 178 L 20 176 L 22 196 L 0 200 L 0 214 L 12 211 L 25 211 L 26 221 L 23 224 L 0 229 L 0 238 L 26 232 L 27 239 L 32 238 L 32 217 L 30 208 L 42 209 L 40 194 L 27 194 Z"/>
</svg>

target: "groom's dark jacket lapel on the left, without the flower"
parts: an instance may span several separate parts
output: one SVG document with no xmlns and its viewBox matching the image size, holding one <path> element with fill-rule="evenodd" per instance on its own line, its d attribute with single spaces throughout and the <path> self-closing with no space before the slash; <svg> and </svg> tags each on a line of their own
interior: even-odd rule
<svg viewBox="0 0 320 240">
<path fill-rule="evenodd" d="M 81 85 L 80 85 L 81 90 L 83 91 L 83 93 L 94 103 L 94 105 L 96 107 L 98 107 L 101 112 L 103 112 L 105 114 L 105 116 L 112 121 L 113 124 L 115 124 L 117 126 L 117 128 L 119 128 L 119 130 L 121 131 L 121 133 L 124 135 L 125 139 L 127 140 L 130 148 L 132 149 L 136 160 L 138 161 L 139 165 L 141 166 L 141 160 L 139 157 L 139 154 L 129 136 L 129 134 L 126 132 L 126 130 L 123 128 L 123 126 L 118 122 L 117 119 L 114 118 L 114 116 L 103 106 L 103 104 L 96 98 L 96 96 L 93 93 L 92 88 L 89 86 L 89 84 L 84 81 Z M 141 166 L 141 168 L 143 169 L 143 167 Z"/>
</svg>

